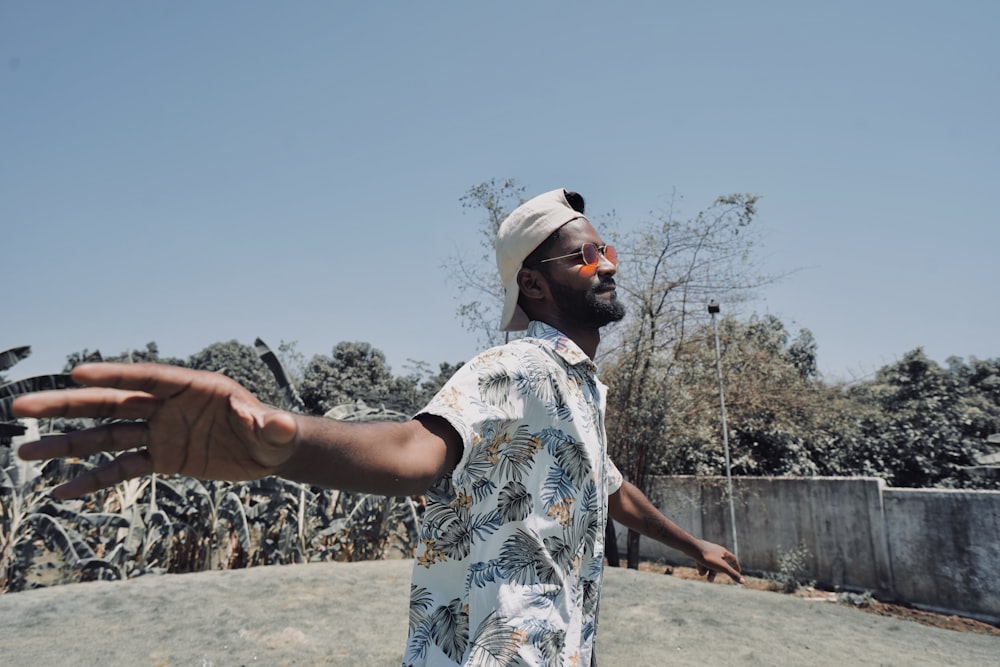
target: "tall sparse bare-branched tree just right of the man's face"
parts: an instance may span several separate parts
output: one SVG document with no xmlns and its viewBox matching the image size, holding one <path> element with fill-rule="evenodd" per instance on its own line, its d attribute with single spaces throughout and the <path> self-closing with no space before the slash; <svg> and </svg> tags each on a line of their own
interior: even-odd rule
<svg viewBox="0 0 1000 667">
<path fill-rule="evenodd" d="M 608 436 L 612 458 L 645 492 L 666 446 L 668 388 L 678 355 L 702 340 L 710 299 L 737 304 L 771 280 L 755 271 L 751 227 L 759 197 L 719 197 L 688 221 L 672 207 L 615 238 L 619 289 L 629 316 L 604 343 Z M 613 527 L 609 525 L 609 531 Z M 609 535 L 609 538 L 613 538 Z M 613 539 L 609 539 L 613 543 Z M 638 535 L 629 534 L 629 566 L 638 567 Z"/>
</svg>

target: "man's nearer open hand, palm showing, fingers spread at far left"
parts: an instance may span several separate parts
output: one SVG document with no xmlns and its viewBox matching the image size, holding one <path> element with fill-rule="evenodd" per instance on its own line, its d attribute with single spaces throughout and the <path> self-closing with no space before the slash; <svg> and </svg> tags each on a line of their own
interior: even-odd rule
<svg viewBox="0 0 1000 667">
<path fill-rule="evenodd" d="M 237 382 L 161 364 L 85 364 L 72 372 L 84 388 L 14 401 L 20 417 L 123 420 L 21 446 L 26 460 L 125 452 L 56 489 L 68 498 L 154 472 L 247 480 L 272 474 L 291 455 L 296 422 Z"/>
</svg>

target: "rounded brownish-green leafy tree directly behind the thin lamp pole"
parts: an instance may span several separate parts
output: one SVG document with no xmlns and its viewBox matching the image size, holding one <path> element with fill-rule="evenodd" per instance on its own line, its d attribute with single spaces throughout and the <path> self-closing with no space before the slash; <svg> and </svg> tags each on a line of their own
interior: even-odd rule
<svg viewBox="0 0 1000 667">
<path fill-rule="evenodd" d="M 676 355 L 666 389 L 666 444 L 657 473 L 725 470 L 712 332 L 702 325 L 694 334 L 699 343 Z M 792 337 L 772 315 L 746 322 L 727 317 L 719 340 L 733 473 L 817 474 L 825 429 L 837 420 L 828 407 L 836 392 L 815 371 L 812 333 L 802 329 Z"/>
</svg>

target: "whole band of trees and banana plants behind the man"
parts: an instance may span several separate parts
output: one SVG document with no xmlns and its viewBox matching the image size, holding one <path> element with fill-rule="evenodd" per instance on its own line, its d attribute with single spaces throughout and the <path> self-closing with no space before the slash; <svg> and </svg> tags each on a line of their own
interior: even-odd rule
<svg viewBox="0 0 1000 667">
<path fill-rule="evenodd" d="M 481 332 L 484 344 L 502 342 L 494 326 L 501 292 L 490 268 L 492 239 L 523 192 L 513 179 L 494 179 L 462 199 L 482 214 L 483 256 L 451 258 L 447 266 L 463 299 L 458 318 Z M 996 468 L 981 465 L 987 436 L 1000 432 L 1000 359 L 952 357 L 941 366 L 916 348 L 870 378 L 828 383 L 817 371 L 818 346 L 808 329 L 789 332 L 772 315 L 741 312 L 757 288 L 782 278 L 756 268 L 757 201 L 724 195 L 690 219 L 675 219 L 668 209 L 627 232 L 618 231 L 613 215 L 599 221 L 619 247 L 620 292 L 629 309 L 597 359 L 610 388 L 612 456 L 626 476 L 646 489 L 651 475 L 724 473 L 715 329 L 705 308 L 719 299 L 725 310 L 714 324 L 733 474 L 865 475 L 894 486 L 1000 488 Z M 113 357 L 82 350 L 67 356 L 63 372 L 87 360 L 158 361 L 224 373 L 288 409 L 402 420 L 462 363 L 432 369 L 411 362 L 397 374 L 363 341 L 339 342 L 329 355 L 308 360 L 295 343 L 282 342 L 277 356 L 291 393 L 262 361 L 259 341 L 256 347 L 213 343 L 188 359 L 161 358 L 154 342 Z M 5 359 L 3 371 L 17 361 Z M 0 375 L 7 406 L 16 384 L 8 380 Z M 88 425 L 50 419 L 39 426 L 44 434 Z M 0 447 L 0 591 L 155 572 L 409 557 L 415 549 L 419 498 L 272 478 L 230 484 L 160 476 L 82 500 L 50 494 L 99 458 L 35 466 Z"/>
</svg>

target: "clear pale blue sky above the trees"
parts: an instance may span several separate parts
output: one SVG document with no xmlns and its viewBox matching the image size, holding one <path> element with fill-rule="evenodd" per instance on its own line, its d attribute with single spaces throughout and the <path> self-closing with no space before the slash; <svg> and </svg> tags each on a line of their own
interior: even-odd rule
<svg viewBox="0 0 1000 667">
<path fill-rule="evenodd" d="M 762 196 L 828 379 L 1000 356 L 1000 3 L 0 0 L 0 349 L 477 350 L 459 198 Z M 596 215 L 594 217 L 597 217 Z"/>
</svg>

